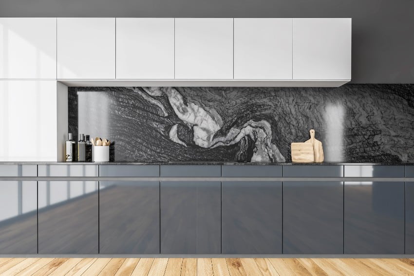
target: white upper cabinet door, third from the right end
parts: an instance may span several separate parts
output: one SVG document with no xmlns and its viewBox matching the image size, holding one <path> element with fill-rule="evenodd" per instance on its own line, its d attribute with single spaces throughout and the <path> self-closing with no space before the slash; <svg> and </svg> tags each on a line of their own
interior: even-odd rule
<svg viewBox="0 0 414 276">
<path fill-rule="evenodd" d="M 233 78 L 233 18 L 175 18 L 175 78 Z"/>
</svg>

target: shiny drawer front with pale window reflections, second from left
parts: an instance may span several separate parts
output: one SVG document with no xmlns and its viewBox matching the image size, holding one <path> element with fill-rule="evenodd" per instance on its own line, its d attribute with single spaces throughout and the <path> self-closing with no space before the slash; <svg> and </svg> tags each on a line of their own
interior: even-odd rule
<svg viewBox="0 0 414 276">
<path fill-rule="evenodd" d="M 52 177 L 80 177 L 98 176 L 97 165 L 39 165 L 38 166 L 39 176 L 52 176 Z"/>
</svg>

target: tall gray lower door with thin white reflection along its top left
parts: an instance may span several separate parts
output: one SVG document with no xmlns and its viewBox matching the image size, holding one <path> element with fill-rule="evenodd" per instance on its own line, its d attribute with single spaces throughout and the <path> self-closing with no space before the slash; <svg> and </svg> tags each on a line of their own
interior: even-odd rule
<svg viewBox="0 0 414 276">
<path fill-rule="evenodd" d="M 404 186 L 345 182 L 345 254 L 404 254 Z"/>
</svg>

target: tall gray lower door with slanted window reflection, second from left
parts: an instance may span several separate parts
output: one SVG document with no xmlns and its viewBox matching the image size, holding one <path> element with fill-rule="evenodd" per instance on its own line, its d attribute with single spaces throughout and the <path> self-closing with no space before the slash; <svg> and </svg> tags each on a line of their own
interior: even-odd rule
<svg viewBox="0 0 414 276">
<path fill-rule="evenodd" d="M 98 254 L 98 183 L 38 182 L 38 253 Z"/>
</svg>

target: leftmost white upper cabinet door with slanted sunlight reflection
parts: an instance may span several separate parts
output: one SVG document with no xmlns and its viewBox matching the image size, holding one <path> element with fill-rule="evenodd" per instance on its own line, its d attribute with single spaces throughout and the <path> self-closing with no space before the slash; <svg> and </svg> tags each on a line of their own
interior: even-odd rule
<svg viewBox="0 0 414 276">
<path fill-rule="evenodd" d="M 0 18 L 0 78 L 56 79 L 56 18 Z"/>
</svg>

